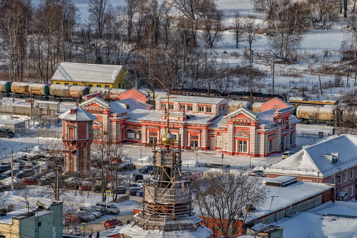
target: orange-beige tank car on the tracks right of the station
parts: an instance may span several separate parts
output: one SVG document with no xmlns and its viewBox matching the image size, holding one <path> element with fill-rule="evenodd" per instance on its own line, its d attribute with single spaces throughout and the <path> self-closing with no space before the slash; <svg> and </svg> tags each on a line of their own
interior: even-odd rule
<svg viewBox="0 0 357 238">
<path fill-rule="evenodd" d="M 296 108 L 296 116 L 301 120 L 302 124 L 308 124 L 310 122 L 326 122 L 328 126 L 333 125 L 335 118 L 334 105 L 325 106 L 298 106 Z M 338 116 L 338 115 L 337 115 Z"/>
</svg>

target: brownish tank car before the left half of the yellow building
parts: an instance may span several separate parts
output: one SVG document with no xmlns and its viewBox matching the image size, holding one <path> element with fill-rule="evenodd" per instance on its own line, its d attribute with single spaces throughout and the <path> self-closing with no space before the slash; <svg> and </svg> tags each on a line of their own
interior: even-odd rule
<svg viewBox="0 0 357 238">
<path fill-rule="evenodd" d="M 51 101 L 81 99 L 82 96 L 89 94 L 89 88 L 86 86 L 51 84 L 50 94 Z"/>
</svg>

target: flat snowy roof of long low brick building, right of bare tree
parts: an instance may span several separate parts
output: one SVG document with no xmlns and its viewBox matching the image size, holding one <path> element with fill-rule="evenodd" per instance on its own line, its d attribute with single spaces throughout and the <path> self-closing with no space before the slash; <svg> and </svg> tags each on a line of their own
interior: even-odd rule
<svg viewBox="0 0 357 238">
<path fill-rule="evenodd" d="M 265 181 L 270 181 L 271 178 L 262 178 L 263 183 Z M 279 178 L 278 178 L 279 180 Z M 282 181 L 285 181 L 284 176 Z M 267 185 L 266 185 L 267 186 Z M 249 217 L 246 222 L 253 221 L 267 214 L 278 211 L 280 209 L 286 208 L 292 204 L 301 202 L 307 198 L 313 197 L 317 194 L 331 189 L 332 186 L 324 183 L 312 183 L 312 182 L 301 182 L 293 183 L 286 187 L 275 187 L 269 186 L 270 192 L 267 193 L 267 197 L 270 198 L 275 196 L 273 202 L 271 199 L 266 199 L 265 204 L 259 207 L 256 211 L 248 213 Z M 293 196 L 292 196 L 293 195 Z"/>
</svg>

